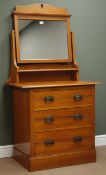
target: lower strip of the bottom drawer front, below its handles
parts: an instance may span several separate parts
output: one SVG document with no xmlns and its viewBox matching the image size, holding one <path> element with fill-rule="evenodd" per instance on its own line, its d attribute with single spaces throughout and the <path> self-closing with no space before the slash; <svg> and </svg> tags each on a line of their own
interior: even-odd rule
<svg viewBox="0 0 106 175">
<path fill-rule="evenodd" d="M 83 138 L 82 141 L 74 141 L 74 139 L 66 141 L 56 141 L 52 144 L 41 143 L 34 145 L 34 155 L 50 155 L 64 152 L 81 151 L 91 148 L 91 138 Z"/>
</svg>

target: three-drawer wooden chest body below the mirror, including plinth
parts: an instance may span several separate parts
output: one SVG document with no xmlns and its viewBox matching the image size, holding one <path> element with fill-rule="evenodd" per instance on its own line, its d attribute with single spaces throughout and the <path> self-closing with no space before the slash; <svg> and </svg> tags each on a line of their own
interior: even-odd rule
<svg viewBox="0 0 106 175">
<path fill-rule="evenodd" d="M 14 155 L 35 171 L 94 162 L 95 85 L 13 88 Z"/>
</svg>

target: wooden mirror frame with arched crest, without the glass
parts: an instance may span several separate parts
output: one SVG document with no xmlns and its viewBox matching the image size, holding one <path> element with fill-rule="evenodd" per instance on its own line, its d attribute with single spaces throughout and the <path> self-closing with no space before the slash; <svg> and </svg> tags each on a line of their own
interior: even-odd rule
<svg viewBox="0 0 106 175">
<path fill-rule="evenodd" d="M 43 10 L 43 12 L 42 12 Z M 30 6 L 17 6 L 13 12 L 14 29 L 16 41 L 16 57 L 17 63 L 67 63 L 72 62 L 72 48 L 70 35 L 70 15 L 66 9 L 57 8 L 48 4 L 36 4 Z M 67 59 L 36 59 L 21 60 L 20 59 L 20 41 L 19 41 L 19 20 L 48 20 L 48 21 L 65 21 L 67 25 Z"/>
</svg>

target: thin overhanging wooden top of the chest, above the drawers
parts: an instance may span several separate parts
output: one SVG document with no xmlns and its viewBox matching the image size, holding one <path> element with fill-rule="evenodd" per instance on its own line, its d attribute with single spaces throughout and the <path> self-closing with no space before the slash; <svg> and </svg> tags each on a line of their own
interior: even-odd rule
<svg viewBox="0 0 106 175">
<path fill-rule="evenodd" d="M 85 86 L 96 85 L 100 82 L 94 81 L 51 81 L 51 82 L 20 82 L 20 83 L 6 83 L 8 86 L 29 89 L 29 88 L 48 88 L 48 87 L 71 87 L 71 86 Z"/>
</svg>

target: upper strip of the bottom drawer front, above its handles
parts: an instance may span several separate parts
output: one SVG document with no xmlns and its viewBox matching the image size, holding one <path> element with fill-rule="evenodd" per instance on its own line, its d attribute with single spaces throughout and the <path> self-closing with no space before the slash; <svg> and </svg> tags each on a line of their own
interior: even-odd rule
<svg viewBox="0 0 106 175">
<path fill-rule="evenodd" d="M 76 136 L 90 137 L 91 127 L 33 133 L 33 143 L 44 143 L 48 139 L 55 141 L 71 140 Z"/>
</svg>

